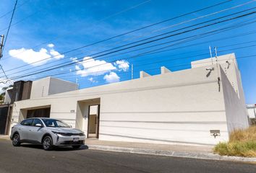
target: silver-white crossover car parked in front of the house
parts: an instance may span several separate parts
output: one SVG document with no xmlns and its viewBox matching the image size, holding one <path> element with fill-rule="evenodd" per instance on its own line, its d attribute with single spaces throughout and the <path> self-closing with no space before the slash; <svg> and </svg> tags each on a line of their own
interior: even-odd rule
<svg viewBox="0 0 256 173">
<path fill-rule="evenodd" d="M 80 148 L 85 143 L 85 133 L 71 128 L 61 120 L 46 117 L 33 117 L 12 127 L 13 146 L 20 143 L 38 143 L 43 149 L 52 150 L 54 146 Z"/>
</svg>

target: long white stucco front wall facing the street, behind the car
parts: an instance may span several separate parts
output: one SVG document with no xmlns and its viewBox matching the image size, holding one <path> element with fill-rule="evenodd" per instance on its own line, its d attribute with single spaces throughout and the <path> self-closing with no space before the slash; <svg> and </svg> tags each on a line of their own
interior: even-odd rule
<svg viewBox="0 0 256 173">
<path fill-rule="evenodd" d="M 87 133 L 88 105 L 100 103 L 100 140 L 215 144 L 228 140 L 225 105 L 217 71 L 206 74 L 199 67 L 28 99 L 15 102 L 13 117 L 51 105 L 51 117 Z"/>
</svg>

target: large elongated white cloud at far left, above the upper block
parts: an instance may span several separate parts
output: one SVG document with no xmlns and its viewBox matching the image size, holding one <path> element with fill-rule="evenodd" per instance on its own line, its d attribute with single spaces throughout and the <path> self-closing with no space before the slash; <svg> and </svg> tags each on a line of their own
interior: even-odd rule
<svg viewBox="0 0 256 173">
<path fill-rule="evenodd" d="M 41 48 L 38 52 L 34 51 L 33 49 L 25 49 L 25 48 L 13 49 L 13 50 L 9 50 L 9 55 L 14 58 L 18 58 L 24 61 L 25 63 L 33 63 L 32 64 L 33 66 L 38 66 L 40 64 L 46 63 L 47 61 L 50 60 L 50 57 L 51 57 L 48 54 L 48 50 L 46 50 L 45 48 Z M 35 63 L 37 61 L 40 61 L 40 62 Z"/>
</svg>

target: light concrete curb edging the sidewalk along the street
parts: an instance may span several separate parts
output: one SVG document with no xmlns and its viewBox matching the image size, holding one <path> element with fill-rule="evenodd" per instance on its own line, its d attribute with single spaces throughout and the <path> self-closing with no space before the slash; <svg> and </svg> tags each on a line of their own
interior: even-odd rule
<svg viewBox="0 0 256 173">
<path fill-rule="evenodd" d="M 256 158 L 247 158 L 239 156 L 220 156 L 218 154 L 207 154 L 207 153 L 192 153 L 182 151 L 164 151 L 164 150 L 153 150 L 145 148 L 125 148 L 118 146 L 98 146 L 98 145 L 87 145 L 89 149 L 102 150 L 102 151 L 115 151 L 132 154 L 149 154 L 156 156 L 174 156 L 184 157 L 190 159 L 207 159 L 216 161 L 243 161 L 243 162 L 256 162 Z"/>
</svg>

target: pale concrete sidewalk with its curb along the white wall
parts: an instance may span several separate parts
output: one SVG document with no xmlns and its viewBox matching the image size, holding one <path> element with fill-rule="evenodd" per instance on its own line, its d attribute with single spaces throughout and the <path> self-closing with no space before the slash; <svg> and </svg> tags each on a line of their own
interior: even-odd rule
<svg viewBox="0 0 256 173">
<path fill-rule="evenodd" d="M 98 141 L 88 138 L 85 144 L 89 149 L 126 152 L 133 154 L 152 154 L 158 156 L 176 156 L 192 159 L 209 159 L 223 161 L 245 161 L 255 162 L 256 158 L 245 158 L 239 156 L 220 156 L 213 154 L 213 146 L 189 146 L 189 145 L 164 145 L 154 143 L 131 143 L 117 141 Z"/>
</svg>

